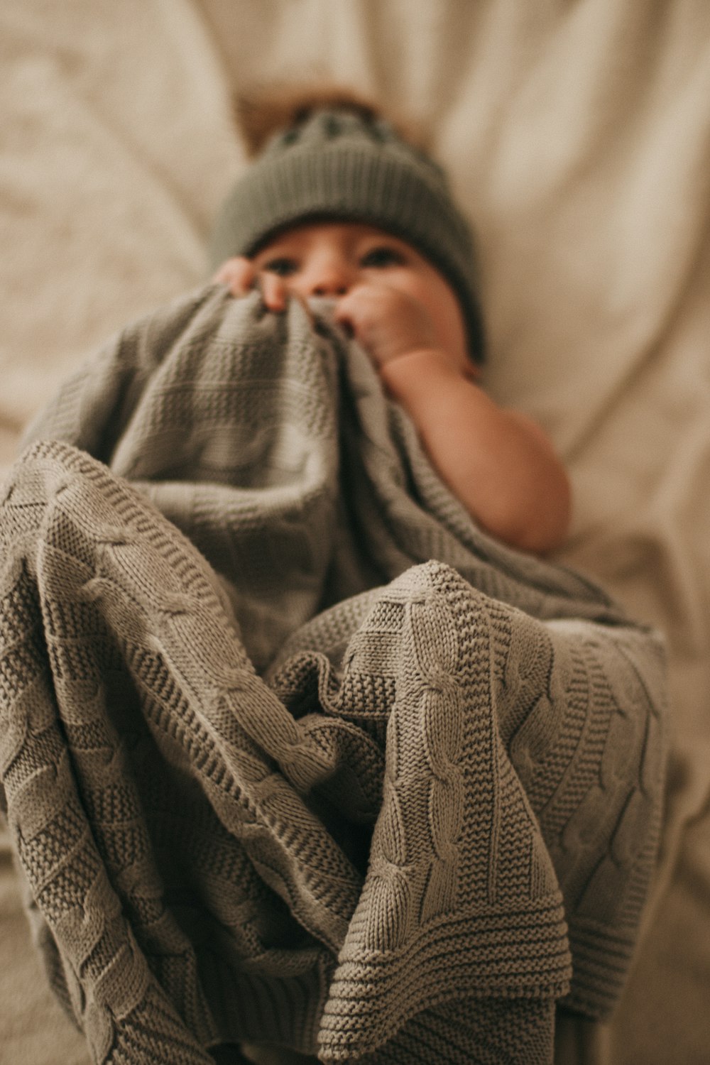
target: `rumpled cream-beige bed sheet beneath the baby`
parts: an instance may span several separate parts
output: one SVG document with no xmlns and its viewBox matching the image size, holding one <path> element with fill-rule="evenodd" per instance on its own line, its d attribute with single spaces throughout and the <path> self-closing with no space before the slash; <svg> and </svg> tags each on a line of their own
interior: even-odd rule
<svg viewBox="0 0 710 1065">
<path fill-rule="evenodd" d="M 710 1061 L 706 0 L 3 0 L 0 465 L 93 345 L 199 282 L 230 91 L 334 75 L 428 122 L 478 233 L 488 387 L 546 426 L 563 561 L 667 637 L 661 865 L 608 1026 L 560 1062 Z M 85 1065 L 0 840 L 0 1063 Z"/>
</svg>

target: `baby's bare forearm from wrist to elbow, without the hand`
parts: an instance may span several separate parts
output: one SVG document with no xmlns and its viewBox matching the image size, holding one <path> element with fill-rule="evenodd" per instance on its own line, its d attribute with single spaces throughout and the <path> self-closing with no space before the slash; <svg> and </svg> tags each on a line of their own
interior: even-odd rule
<svg viewBox="0 0 710 1065">
<path fill-rule="evenodd" d="M 569 484 L 533 422 L 498 407 L 435 350 L 408 353 L 379 371 L 442 479 L 483 528 L 527 551 L 562 543 Z"/>
</svg>

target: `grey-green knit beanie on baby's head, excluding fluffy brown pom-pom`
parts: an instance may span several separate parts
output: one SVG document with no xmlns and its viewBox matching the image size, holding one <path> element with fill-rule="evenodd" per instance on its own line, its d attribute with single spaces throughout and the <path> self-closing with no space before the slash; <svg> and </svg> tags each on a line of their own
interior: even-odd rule
<svg viewBox="0 0 710 1065">
<path fill-rule="evenodd" d="M 326 105 L 275 133 L 217 216 L 212 265 L 253 256 L 280 230 L 326 220 L 376 226 L 412 245 L 456 293 L 470 356 L 482 361 L 470 229 L 441 167 L 375 112 Z"/>
</svg>

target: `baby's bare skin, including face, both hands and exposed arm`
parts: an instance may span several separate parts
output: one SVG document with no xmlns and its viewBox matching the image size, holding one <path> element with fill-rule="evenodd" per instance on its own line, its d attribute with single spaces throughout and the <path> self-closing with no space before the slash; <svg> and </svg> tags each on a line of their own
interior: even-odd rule
<svg viewBox="0 0 710 1065">
<path fill-rule="evenodd" d="M 304 224 L 227 260 L 214 280 L 234 296 L 258 283 L 276 312 L 294 296 L 333 299 L 335 321 L 368 353 L 474 520 L 524 551 L 560 546 L 571 510 L 564 468 L 534 422 L 480 388 L 456 294 L 411 245 L 360 223 Z"/>
</svg>

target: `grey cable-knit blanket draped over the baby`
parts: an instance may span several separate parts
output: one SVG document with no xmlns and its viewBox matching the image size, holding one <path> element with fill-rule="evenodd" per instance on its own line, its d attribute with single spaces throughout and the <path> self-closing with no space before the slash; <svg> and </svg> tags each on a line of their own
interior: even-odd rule
<svg viewBox="0 0 710 1065">
<path fill-rule="evenodd" d="M 609 1013 L 659 640 L 480 532 L 327 308 L 129 327 L 1 503 L 6 816 L 96 1062 L 530 1065 Z"/>
</svg>

